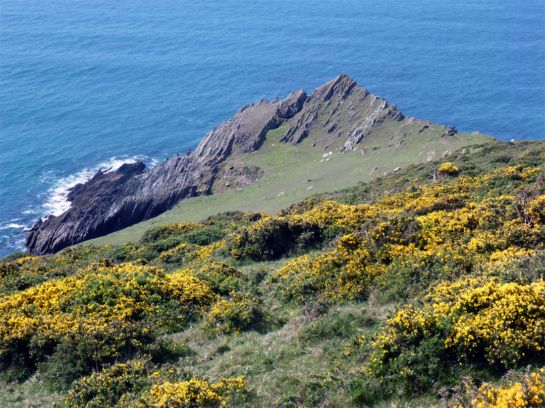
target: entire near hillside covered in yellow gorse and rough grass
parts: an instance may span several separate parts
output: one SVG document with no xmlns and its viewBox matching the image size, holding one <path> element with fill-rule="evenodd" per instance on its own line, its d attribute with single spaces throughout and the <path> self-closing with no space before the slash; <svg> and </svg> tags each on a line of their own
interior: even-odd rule
<svg viewBox="0 0 545 408">
<path fill-rule="evenodd" d="M 0 263 L 2 406 L 543 406 L 545 144 Z M 34 405 L 33 405 L 34 404 Z"/>
</svg>

